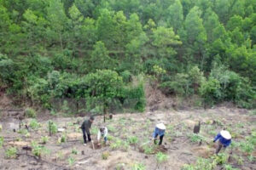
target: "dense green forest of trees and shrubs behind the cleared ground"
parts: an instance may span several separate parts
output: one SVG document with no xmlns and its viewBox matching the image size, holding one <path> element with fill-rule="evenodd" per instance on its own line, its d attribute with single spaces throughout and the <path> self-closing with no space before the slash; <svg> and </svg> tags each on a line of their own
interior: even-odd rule
<svg viewBox="0 0 256 170">
<path fill-rule="evenodd" d="M 255 0 L 0 0 L 0 87 L 49 110 L 143 111 L 146 81 L 253 108 L 255 43 Z"/>
</svg>

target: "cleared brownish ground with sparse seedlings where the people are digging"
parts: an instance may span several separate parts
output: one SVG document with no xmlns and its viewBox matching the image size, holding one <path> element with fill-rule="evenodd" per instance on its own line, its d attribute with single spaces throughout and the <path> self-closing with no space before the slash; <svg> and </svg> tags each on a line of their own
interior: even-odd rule
<svg viewBox="0 0 256 170">
<path fill-rule="evenodd" d="M 42 144 L 42 136 L 49 136 L 48 122 L 45 118 L 38 118 L 40 127 L 37 130 L 28 129 L 25 133 L 19 127 L 20 121 L 13 117 L 4 117 L 1 120 L 3 147 L 0 149 L 0 169 L 132 169 L 143 164 L 147 170 L 182 169 L 184 164 L 194 164 L 198 157 L 209 158 L 213 155 L 215 145 L 212 139 L 222 127 L 228 127 L 233 141 L 244 141 L 252 131 L 256 130 L 256 116 L 249 111 L 218 107 L 208 110 L 193 111 L 154 111 L 137 114 L 114 115 L 113 120 L 107 120 L 104 125 L 109 130 L 109 141 L 93 150 L 91 144 L 83 145 L 82 133 L 79 129 L 85 117 L 53 117 L 52 121 L 58 127 L 65 128 L 63 133 L 55 133 L 49 137 L 46 144 Z M 29 125 L 31 119 L 23 120 L 22 125 Z M 150 141 L 154 126 L 157 122 L 166 124 L 166 136 L 162 147 L 155 147 Z M 204 137 L 201 142 L 192 142 L 191 135 L 196 122 L 201 121 L 201 133 Z M 102 125 L 102 116 L 96 116 L 91 129 L 92 138 L 96 141 L 97 128 Z M 16 129 L 14 132 L 13 129 Z M 19 132 L 19 133 L 18 133 Z M 66 136 L 65 142 L 60 141 Z M 133 137 L 135 144 L 129 144 L 129 138 Z M 59 140 L 59 141 L 58 141 Z M 44 146 L 42 156 L 34 156 L 31 150 L 22 150 L 22 147 L 31 146 L 32 141 L 39 146 Z M 5 150 L 10 146 L 17 148 L 17 157 L 7 159 Z M 153 148 L 151 151 L 150 148 Z M 148 151 L 148 150 L 149 151 Z M 156 152 L 163 152 L 167 160 L 159 163 Z M 247 154 L 236 149 L 225 150 L 227 154 L 232 151 L 229 164 L 238 169 L 256 169 L 256 162 L 249 161 Z M 102 159 L 102 154 L 107 159 Z M 238 156 L 243 161 L 238 163 L 232 156 Z M 256 156 L 255 150 L 253 156 Z M 219 165 L 216 169 L 222 169 Z"/>
</svg>

